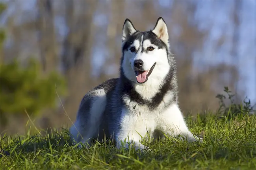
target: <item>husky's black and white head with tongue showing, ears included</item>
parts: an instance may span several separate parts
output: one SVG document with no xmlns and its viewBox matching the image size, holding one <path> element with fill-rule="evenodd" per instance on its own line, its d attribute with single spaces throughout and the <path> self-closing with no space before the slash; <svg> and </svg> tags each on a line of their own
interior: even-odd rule
<svg viewBox="0 0 256 170">
<path fill-rule="evenodd" d="M 122 29 L 121 69 L 130 81 L 140 85 L 160 84 L 168 74 L 169 36 L 163 18 L 153 30 L 137 31 L 129 19 Z"/>
</svg>

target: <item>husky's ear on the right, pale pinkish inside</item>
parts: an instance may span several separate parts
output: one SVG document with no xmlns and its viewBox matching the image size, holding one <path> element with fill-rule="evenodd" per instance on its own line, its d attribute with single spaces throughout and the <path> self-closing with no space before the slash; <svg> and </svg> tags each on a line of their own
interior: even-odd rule
<svg viewBox="0 0 256 170">
<path fill-rule="evenodd" d="M 169 35 L 167 30 L 167 25 L 162 17 L 159 17 L 154 29 L 152 30 L 158 38 L 160 38 L 163 42 L 168 43 Z"/>
</svg>

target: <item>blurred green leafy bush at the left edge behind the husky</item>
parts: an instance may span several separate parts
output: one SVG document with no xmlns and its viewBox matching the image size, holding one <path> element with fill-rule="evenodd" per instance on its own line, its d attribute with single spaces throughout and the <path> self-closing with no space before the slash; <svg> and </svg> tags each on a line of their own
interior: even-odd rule
<svg viewBox="0 0 256 170">
<path fill-rule="evenodd" d="M 4 7 L 0 4 L 0 14 Z M 0 32 L 0 49 L 5 40 L 4 31 Z M 1 59 L 3 55 L 1 53 Z M 7 124 L 8 115 L 37 115 L 47 107 L 56 106 L 56 87 L 59 95 L 65 95 L 65 80 L 57 72 L 42 74 L 41 64 L 30 59 L 26 65 L 13 60 L 0 62 L 0 126 Z"/>
</svg>

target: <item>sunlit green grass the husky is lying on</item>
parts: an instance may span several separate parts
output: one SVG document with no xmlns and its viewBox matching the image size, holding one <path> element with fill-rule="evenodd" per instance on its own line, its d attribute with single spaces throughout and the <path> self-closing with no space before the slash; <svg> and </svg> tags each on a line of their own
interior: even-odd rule
<svg viewBox="0 0 256 170">
<path fill-rule="evenodd" d="M 187 117 L 190 130 L 203 143 L 175 138 L 150 144 L 152 150 L 118 150 L 107 143 L 91 148 L 70 145 L 66 130 L 39 135 L 6 136 L 0 147 L 9 156 L 0 158 L 2 169 L 255 169 L 256 116 Z"/>
</svg>

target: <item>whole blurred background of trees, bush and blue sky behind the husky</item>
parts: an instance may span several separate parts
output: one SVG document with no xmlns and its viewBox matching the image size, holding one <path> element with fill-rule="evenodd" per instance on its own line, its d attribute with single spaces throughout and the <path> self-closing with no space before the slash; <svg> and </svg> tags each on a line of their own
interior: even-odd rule
<svg viewBox="0 0 256 170">
<path fill-rule="evenodd" d="M 126 18 L 140 31 L 164 18 L 185 113 L 216 110 L 224 86 L 256 103 L 255 0 L 1 0 L 0 12 L 0 134 L 70 126 L 87 90 L 119 76 Z"/>
</svg>

